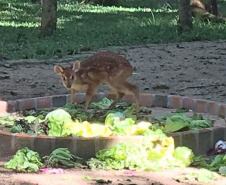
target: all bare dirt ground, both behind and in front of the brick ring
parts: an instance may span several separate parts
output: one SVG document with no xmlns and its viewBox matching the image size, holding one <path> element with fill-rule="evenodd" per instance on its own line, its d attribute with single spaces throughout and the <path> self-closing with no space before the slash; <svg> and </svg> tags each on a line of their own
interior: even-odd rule
<svg viewBox="0 0 226 185">
<path fill-rule="evenodd" d="M 141 92 L 192 96 L 226 103 L 226 41 L 152 44 L 108 48 L 124 55 L 134 66 L 131 81 Z M 96 51 L 95 51 L 96 52 Z M 67 66 L 95 52 L 52 60 L 0 61 L 0 99 L 14 100 L 68 93 L 53 66 Z M 103 85 L 100 91 L 108 91 Z M 175 175 L 195 169 L 164 170 L 161 172 L 66 170 L 64 174 L 20 174 L 2 168 L 6 158 L 0 159 L 0 185 L 2 184 L 98 184 L 84 180 L 84 176 L 101 178 L 112 185 L 177 185 Z M 99 183 L 100 184 L 100 183 Z M 107 184 L 103 183 L 103 184 Z M 190 184 L 197 184 L 197 182 Z M 226 185 L 220 177 L 211 185 Z"/>
</svg>

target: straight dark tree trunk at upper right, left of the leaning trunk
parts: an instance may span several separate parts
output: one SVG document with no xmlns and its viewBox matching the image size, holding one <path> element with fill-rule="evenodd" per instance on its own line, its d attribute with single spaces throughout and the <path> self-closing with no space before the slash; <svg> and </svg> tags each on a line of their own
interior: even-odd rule
<svg viewBox="0 0 226 185">
<path fill-rule="evenodd" d="M 178 0 L 178 5 L 179 5 L 179 30 L 191 31 L 192 15 L 190 0 Z"/>
</svg>

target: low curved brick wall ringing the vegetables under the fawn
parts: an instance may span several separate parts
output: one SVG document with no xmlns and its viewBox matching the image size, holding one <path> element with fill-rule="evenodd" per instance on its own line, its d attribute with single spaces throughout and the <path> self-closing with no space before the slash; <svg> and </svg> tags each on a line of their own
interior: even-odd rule
<svg viewBox="0 0 226 185">
<path fill-rule="evenodd" d="M 93 101 L 101 100 L 104 96 L 112 98 L 113 94 L 97 94 Z M 69 102 L 70 95 L 47 96 L 29 98 L 16 101 L 0 101 L 0 115 L 19 110 L 60 107 Z M 85 94 L 77 94 L 76 102 L 82 103 Z M 125 96 L 123 101 L 133 102 L 132 96 Z M 188 108 L 199 113 L 209 113 L 226 118 L 226 104 L 182 97 L 176 95 L 142 94 L 140 105 L 148 107 Z M 176 146 L 188 146 L 196 155 L 205 154 L 213 148 L 218 140 L 226 140 L 226 124 L 221 127 L 212 127 L 199 131 L 186 131 L 171 133 Z M 25 146 L 40 153 L 41 156 L 49 155 L 55 148 L 67 147 L 69 150 L 83 158 L 95 156 L 103 148 L 108 148 L 119 142 L 142 142 L 142 136 L 110 136 L 110 137 L 50 137 L 28 134 L 10 133 L 0 130 L 0 157 L 13 155 L 18 149 Z"/>
</svg>

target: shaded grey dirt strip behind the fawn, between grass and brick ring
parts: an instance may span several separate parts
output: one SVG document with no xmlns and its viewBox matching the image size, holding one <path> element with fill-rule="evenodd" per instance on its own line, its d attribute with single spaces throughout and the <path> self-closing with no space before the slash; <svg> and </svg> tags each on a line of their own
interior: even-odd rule
<svg viewBox="0 0 226 185">
<path fill-rule="evenodd" d="M 141 92 L 192 96 L 226 102 L 226 40 L 108 48 L 134 66 L 131 81 Z M 55 64 L 68 66 L 94 52 L 52 60 L 0 61 L 0 99 L 68 93 Z M 103 85 L 100 91 L 108 91 Z"/>
</svg>

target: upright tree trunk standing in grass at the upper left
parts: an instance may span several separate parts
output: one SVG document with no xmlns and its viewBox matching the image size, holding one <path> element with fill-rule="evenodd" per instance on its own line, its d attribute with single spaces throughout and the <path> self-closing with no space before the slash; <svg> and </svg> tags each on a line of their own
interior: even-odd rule
<svg viewBox="0 0 226 185">
<path fill-rule="evenodd" d="M 42 0 L 42 20 L 40 36 L 52 35 L 56 30 L 57 0 Z"/>
</svg>

